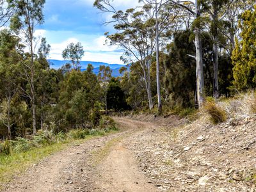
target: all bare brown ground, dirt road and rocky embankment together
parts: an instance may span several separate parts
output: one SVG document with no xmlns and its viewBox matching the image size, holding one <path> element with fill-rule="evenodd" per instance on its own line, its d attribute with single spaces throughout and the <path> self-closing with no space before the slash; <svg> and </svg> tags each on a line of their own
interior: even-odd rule
<svg viewBox="0 0 256 192">
<path fill-rule="evenodd" d="M 121 131 L 58 152 L 3 191 L 256 191 L 256 117 L 217 126 L 115 118 Z"/>
</svg>

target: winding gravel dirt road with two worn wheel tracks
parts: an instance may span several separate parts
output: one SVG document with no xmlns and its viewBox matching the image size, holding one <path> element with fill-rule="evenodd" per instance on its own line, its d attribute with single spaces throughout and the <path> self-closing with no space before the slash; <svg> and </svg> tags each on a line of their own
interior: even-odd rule
<svg viewBox="0 0 256 192">
<path fill-rule="evenodd" d="M 3 191 L 157 191 L 127 148 L 134 134 L 157 126 L 126 118 L 115 120 L 121 132 L 52 155 L 15 178 Z"/>
</svg>

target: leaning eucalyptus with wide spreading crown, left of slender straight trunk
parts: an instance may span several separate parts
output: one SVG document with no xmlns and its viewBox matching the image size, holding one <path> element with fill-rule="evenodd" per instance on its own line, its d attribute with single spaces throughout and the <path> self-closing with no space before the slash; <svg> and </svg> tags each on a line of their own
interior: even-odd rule
<svg viewBox="0 0 256 192">
<path fill-rule="evenodd" d="M 150 67 L 152 64 L 152 56 L 156 48 L 155 44 L 155 22 L 148 15 L 147 6 L 143 6 L 141 10 L 130 8 L 123 11 L 116 11 L 109 0 L 97 0 L 94 6 L 102 12 L 113 13 L 115 22 L 114 28 L 116 33 L 106 36 L 110 45 L 118 45 L 124 49 L 122 60 L 126 63 L 134 63 L 139 61 L 143 70 L 143 80 L 148 96 L 148 105 L 151 110 L 153 106 Z"/>
</svg>

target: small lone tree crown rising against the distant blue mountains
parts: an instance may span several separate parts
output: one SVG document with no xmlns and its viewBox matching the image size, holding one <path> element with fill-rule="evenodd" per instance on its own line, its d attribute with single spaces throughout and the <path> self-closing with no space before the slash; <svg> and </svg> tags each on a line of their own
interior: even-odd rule
<svg viewBox="0 0 256 192">
<path fill-rule="evenodd" d="M 80 68 L 80 61 L 83 56 L 84 50 L 80 42 L 78 42 L 77 44 L 68 44 L 67 48 L 64 49 L 62 52 L 62 57 L 64 58 L 64 60 L 70 60 L 75 70 L 78 70 Z"/>
</svg>

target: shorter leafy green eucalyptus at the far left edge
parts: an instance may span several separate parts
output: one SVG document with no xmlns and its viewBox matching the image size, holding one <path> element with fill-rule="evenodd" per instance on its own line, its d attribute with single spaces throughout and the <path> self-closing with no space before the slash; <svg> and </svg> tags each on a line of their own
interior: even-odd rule
<svg viewBox="0 0 256 192">
<path fill-rule="evenodd" d="M 19 93 L 21 49 L 17 36 L 12 35 L 7 29 L 0 32 L 0 95 L 4 99 L 3 102 L 6 102 L 6 114 L 2 111 L 1 119 L 8 129 L 9 140 L 12 138 L 12 125 L 15 124 L 11 111 L 13 99 Z"/>
</svg>

